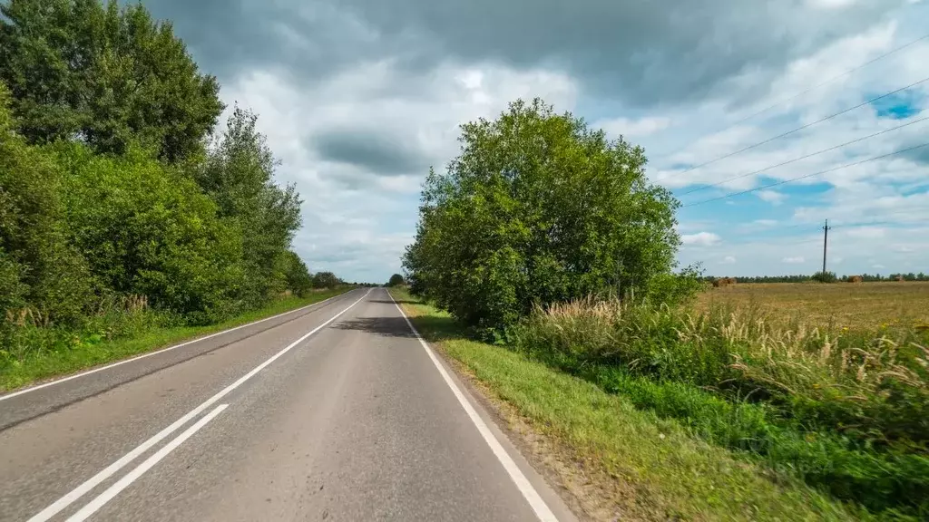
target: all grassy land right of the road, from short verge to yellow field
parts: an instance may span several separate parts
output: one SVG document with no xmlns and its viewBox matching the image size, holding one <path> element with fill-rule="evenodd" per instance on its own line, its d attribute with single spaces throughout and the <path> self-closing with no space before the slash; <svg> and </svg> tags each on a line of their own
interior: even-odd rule
<svg viewBox="0 0 929 522">
<path fill-rule="evenodd" d="M 505 347 L 398 296 L 532 437 L 585 463 L 563 480 L 596 485 L 593 518 L 929 519 L 929 283 L 575 301 L 536 309 Z"/>
</svg>

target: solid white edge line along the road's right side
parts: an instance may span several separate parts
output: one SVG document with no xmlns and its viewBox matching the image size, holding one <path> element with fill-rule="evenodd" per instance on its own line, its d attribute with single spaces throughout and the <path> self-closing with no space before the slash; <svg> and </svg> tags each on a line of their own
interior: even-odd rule
<svg viewBox="0 0 929 522">
<path fill-rule="evenodd" d="M 386 291 L 387 295 L 390 295 L 390 291 Z M 426 344 L 423 336 L 419 334 L 416 330 L 416 327 L 410 322 L 410 318 L 406 317 L 406 314 L 403 313 L 403 308 L 401 308 L 397 301 L 394 300 L 394 296 L 390 295 L 390 300 L 394 302 L 394 306 L 400 311 L 400 315 L 403 316 L 403 319 L 407 321 L 407 325 L 410 326 L 412 333 L 416 335 L 416 338 L 419 339 L 419 344 L 425 349 L 425 353 L 429 354 L 429 359 L 432 359 L 432 363 L 436 365 L 438 372 L 442 375 L 442 379 L 445 380 L 445 384 L 449 385 L 451 388 L 451 393 L 455 394 L 455 398 L 458 398 L 459 404 L 462 405 L 464 411 L 467 413 L 467 416 L 471 418 L 471 422 L 478 427 L 478 432 L 480 432 L 481 437 L 484 437 L 484 441 L 487 442 L 487 445 L 491 447 L 493 454 L 496 455 L 497 460 L 503 464 L 506 473 L 509 474 L 510 478 L 513 479 L 513 482 L 516 483 L 517 489 L 522 493 L 523 498 L 526 499 L 526 502 L 529 502 L 532 511 L 535 512 L 535 515 L 539 517 L 539 520 L 542 522 L 558 522 L 555 514 L 552 513 L 552 510 L 548 507 L 548 504 L 545 503 L 542 496 L 539 495 L 539 492 L 532 487 L 529 479 L 523 475 L 522 470 L 519 469 L 517 463 L 513 462 L 513 459 L 510 457 L 509 453 L 504 450 L 500 441 L 497 440 L 497 437 L 494 437 L 491 428 L 484 423 L 484 419 L 478 415 L 478 411 L 475 411 L 474 407 L 471 406 L 471 403 L 467 398 L 464 397 L 464 394 L 458 386 L 455 385 L 454 381 L 451 380 L 449 373 L 445 371 L 445 368 L 442 366 L 442 363 L 438 361 L 436 354 L 433 353 L 432 348 Z"/>
</svg>

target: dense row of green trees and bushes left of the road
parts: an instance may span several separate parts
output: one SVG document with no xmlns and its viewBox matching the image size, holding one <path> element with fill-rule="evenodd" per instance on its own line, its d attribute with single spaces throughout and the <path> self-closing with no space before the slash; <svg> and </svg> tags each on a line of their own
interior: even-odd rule
<svg viewBox="0 0 929 522">
<path fill-rule="evenodd" d="M 113 0 L 0 12 L 7 336 L 24 317 L 79 329 L 130 297 L 204 324 L 340 284 L 292 250 L 300 196 L 275 181 L 257 116 L 235 107 L 216 128 L 216 78 L 169 22 Z"/>
</svg>

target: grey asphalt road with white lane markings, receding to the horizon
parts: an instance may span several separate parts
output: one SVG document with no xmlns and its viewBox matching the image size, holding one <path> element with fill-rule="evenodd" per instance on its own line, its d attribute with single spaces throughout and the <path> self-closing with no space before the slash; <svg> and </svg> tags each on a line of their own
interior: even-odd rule
<svg viewBox="0 0 929 522">
<path fill-rule="evenodd" d="M 0 520 L 572 520 L 384 289 L 0 397 Z"/>
</svg>

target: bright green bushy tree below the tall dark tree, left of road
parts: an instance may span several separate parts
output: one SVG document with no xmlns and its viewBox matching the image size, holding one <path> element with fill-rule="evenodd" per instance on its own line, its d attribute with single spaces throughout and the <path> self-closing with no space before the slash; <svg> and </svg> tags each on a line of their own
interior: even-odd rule
<svg viewBox="0 0 929 522">
<path fill-rule="evenodd" d="M 189 177 L 135 150 L 115 158 L 80 144 L 55 150 L 67 168 L 72 243 L 102 287 L 147 295 L 193 323 L 246 305 L 242 236 Z"/>
</svg>

